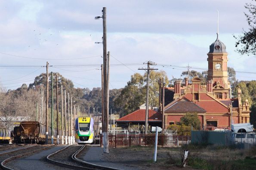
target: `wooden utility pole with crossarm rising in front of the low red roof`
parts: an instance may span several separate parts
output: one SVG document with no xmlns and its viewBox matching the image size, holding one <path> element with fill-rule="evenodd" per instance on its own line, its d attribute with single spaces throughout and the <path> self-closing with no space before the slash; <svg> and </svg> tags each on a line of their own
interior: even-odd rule
<svg viewBox="0 0 256 170">
<path fill-rule="evenodd" d="M 156 65 L 155 63 L 148 61 L 147 63 L 148 68 L 147 69 L 138 69 L 138 70 L 147 70 L 147 96 L 146 96 L 146 115 L 145 115 L 145 134 L 148 134 L 148 93 L 149 93 L 149 86 L 148 86 L 148 81 L 149 81 L 149 73 L 150 70 L 158 70 L 158 69 L 151 69 L 151 65 Z"/>
</svg>

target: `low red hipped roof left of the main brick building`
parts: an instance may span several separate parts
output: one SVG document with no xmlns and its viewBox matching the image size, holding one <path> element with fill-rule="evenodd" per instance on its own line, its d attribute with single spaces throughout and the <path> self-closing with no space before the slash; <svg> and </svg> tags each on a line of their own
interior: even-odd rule
<svg viewBox="0 0 256 170">
<path fill-rule="evenodd" d="M 134 112 L 127 114 L 126 116 L 117 119 L 118 122 L 145 122 L 145 109 L 135 110 Z M 161 122 L 162 121 L 162 114 L 156 112 L 155 110 L 148 110 L 148 121 L 149 122 Z"/>
</svg>

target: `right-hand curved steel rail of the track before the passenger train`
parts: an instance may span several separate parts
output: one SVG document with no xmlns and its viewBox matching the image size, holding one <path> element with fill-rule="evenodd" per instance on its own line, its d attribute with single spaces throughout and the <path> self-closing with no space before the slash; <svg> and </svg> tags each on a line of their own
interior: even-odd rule
<svg viewBox="0 0 256 170">
<path fill-rule="evenodd" d="M 105 167 L 105 166 L 101 166 L 101 165 L 96 165 L 96 164 L 92 164 L 92 163 L 89 163 L 89 162 L 86 162 L 86 161 L 83 161 L 81 159 L 78 159 L 77 158 L 77 155 L 86 147 L 86 145 L 82 146 L 80 149 L 77 150 L 77 152 L 75 152 L 73 155 L 72 155 L 72 159 L 74 161 L 77 161 L 77 162 L 80 162 L 84 165 L 86 165 L 86 167 L 91 167 L 93 168 L 94 170 L 121 170 L 121 169 L 117 169 L 117 168 L 113 168 L 113 167 Z"/>
</svg>

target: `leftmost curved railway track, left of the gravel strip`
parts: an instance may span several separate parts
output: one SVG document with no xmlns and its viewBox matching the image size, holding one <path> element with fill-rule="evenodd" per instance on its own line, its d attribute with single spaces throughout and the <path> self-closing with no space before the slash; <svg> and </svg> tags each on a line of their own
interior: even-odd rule
<svg viewBox="0 0 256 170">
<path fill-rule="evenodd" d="M 4 170 L 13 170 L 11 167 L 7 167 L 6 164 L 9 161 L 14 160 L 15 158 L 20 158 L 22 156 L 31 154 L 33 152 L 37 152 L 43 149 L 46 149 L 50 146 L 40 146 L 40 145 L 32 145 L 21 149 L 15 149 L 8 152 L 3 152 L 0 154 L 1 167 Z"/>
</svg>

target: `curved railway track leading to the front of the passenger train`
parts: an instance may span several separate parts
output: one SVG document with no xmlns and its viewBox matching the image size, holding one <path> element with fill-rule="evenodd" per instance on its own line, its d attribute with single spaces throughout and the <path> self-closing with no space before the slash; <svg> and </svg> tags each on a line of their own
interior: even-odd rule
<svg viewBox="0 0 256 170">
<path fill-rule="evenodd" d="M 111 168 L 111 167 L 104 167 L 104 166 L 100 166 L 100 165 L 96 165 L 96 164 L 91 164 L 89 162 L 86 162 L 86 161 L 83 161 L 83 160 L 80 160 L 77 158 L 77 155 L 83 150 L 86 148 L 86 145 L 84 146 L 81 146 L 79 147 L 79 149 L 77 149 L 71 156 L 71 159 L 73 162 L 68 162 L 68 163 L 65 163 L 65 162 L 62 162 L 62 161 L 57 161 L 57 160 L 53 160 L 51 159 L 50 157 L 53 157 L 55 155 L 58 155 L 60 152 L 65 152 L 65 150 L 68 150 L 70 147 L 72 146 L 67 146 L 63 149 L 60 149 L 58 150 L 57 152 L 55 153 L 52 153 L 50 155 L 47 156 L 47 161 L 53 163 L 53 164 L 57 164 L 59 166 L 62 166 L 62 167 L 68 167 L 68 168 L 71 168 L 71 169 L 80 169 L 80 170 L 119 170 L 119 169 L 116 169 L 116 168 Z M 62 154 L 64 155 L 64 154 Z"/>
</svg>

